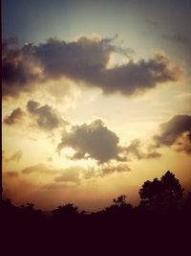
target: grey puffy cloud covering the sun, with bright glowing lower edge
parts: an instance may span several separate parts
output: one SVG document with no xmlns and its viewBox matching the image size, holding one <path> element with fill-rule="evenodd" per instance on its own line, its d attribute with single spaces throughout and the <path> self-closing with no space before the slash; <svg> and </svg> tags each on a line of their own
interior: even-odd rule
<svg viewBox="0 0 191 256">
<path fill-rule="evenodd" d="M 69 147 L 75 151 L 72 159 L 93 158 L 103 163 L 111 159 L 121 160 L 118 143 L 117 134 L 108 129 L 101 120 L 96 120 L 90 125 L 72 127 L 71 131 L 63 135 L 57 150 Z"/>
</svg>

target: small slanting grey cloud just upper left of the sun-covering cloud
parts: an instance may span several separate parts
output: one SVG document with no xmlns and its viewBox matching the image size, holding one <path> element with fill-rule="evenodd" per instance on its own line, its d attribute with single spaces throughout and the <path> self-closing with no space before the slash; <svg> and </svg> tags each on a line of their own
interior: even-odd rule
<svg viewBox="0 0 191 256">
<path fill-rule="evenodd" d="M 53 128 L 59 128 L 61 125 L 69 124 L 64 121 L 59 113 L 50 105 L 40 106 L 38 102 L 29 101 L 27 109 L 34 117 L 36 125 L 39 128 L 52 130 Z"/>
</svg>

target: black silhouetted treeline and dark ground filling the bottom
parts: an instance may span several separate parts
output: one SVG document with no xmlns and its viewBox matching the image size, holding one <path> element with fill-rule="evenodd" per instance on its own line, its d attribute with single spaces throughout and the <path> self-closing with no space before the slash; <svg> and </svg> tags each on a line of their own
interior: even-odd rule
<svg viewBox="0 0 191 256">
<path fill-rule="evenodd" d="M 58 206 L 49 216 L 36 210 L 32 203 L 16 207 L 10 199 L 3 199 L 0 215 L 4 243 L 22 241 L 31 249 L 35 244 L 44 250 L 53 246 L 52 255 L 57 255 L 55 250 L 60 247 L 67 250 L 62 255 L 76 255 L 73 250 L 81 246 L 83 251 L 101 247 L 102 253 L 97 251 L 96 255 L 112 255 L 111 250 L 116 249 L 115 255 L 123 255 L 119 251 L 126 246 L 128 253 L 124 255 L 140 255 L 142 251 L 146 255 L 173 255 L 174 250 L 179 255 L 189 255 L 183 250 L 191 237 L 191 193 L 183 198 L 179 179 L 169 171 L 160 179 L 145 181 L 138 193 L 137 207 L 121 195 L 96 213 L 79 211 L 68 203 Z M 155 251 L 151 251 L 153 246 Z M 164 247 L 169 249 L 168 254 L 162 251 Z M 88 255 L 95 254 L 89 251 Z"/>
</svg>

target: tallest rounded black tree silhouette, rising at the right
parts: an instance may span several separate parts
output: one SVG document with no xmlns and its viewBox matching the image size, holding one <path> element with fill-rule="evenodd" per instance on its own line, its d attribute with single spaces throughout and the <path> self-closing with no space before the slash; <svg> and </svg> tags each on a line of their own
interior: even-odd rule
<svg viewBox="0 0 191 256">
<path fill-rule="evenodd" d="M 183 189 L 179 179 L 170 171 L 162 175 L 160 180 L 147 180 L 139 190 L 140 206 L 158 213 L 173 212 L 179 208 L 183 197 Z"/>
</svg>

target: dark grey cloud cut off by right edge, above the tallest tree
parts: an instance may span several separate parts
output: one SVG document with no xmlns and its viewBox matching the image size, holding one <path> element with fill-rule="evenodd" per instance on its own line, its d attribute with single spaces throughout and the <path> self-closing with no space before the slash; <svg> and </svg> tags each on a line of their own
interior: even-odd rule
<svg viewBox="0 0 191 256">
<path fill-rule="evenodd" d="M 156 134 L 153 139 L 156 148 L 175 146 L 176 151 L 191 153 L 191 116 L 174 116 L 159 126 L 159 134 Z"/>
</svg>

